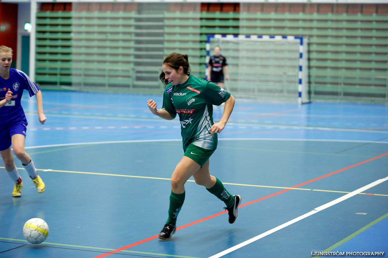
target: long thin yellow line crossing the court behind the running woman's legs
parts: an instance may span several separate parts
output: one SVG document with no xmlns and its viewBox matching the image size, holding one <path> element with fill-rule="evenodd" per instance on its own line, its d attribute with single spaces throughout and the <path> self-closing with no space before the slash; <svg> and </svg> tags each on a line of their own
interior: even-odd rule
<svg viewBox="0 0 388 258">
<path fill-rule="evenodd" d="M 0 167 L 5 168 L 5 167 Z M 24 169 L 23 167 L 18 167 L 17 169 Z M 82 171 L 69 171 L 69 170 L 56 170 L 56 169 L 36 169 L 39 171 L 54 171 L 62 173 L 76 173 L 76 174 L 92 174 L 92 175 L 101 175 L 101 176 L 122 176 L 127 178 L 145 178 L 145 179 L 159 179 L 159 180 L 171 180 L 171 178 L 156 178 L 151 176 L 130 176 L 130 175 L 121 175 L 121 174 L 107 174 L 107 173 L 95 173 L 95 172 L 82 172 Z M 188 182 L 195 182 L 194 180 L 187 180 Z M 290 190 L 305 190 L 305 191 L 321 191 L 321 192 L 330 192 L 330 193 L 350 193 L 346 191 L 333 191 L 333 190 L 319 190 L 319 189 L 308 189 L 308 188 L 293 188 L 293 187 L 282 187 L 282 186 L 267 186 L 267 185 L 247 185 L 247 184 L 237 184 L 237 183 L 224 183 L 224 185 L 238 185 L 238 186 L 253 186 L 253 187 L 263 187 L 263 188 L 280 188 L 280 189 L 290 189 Z M 388 196 L 374 193 L 359 193 L 360 195 L 379 195 L 379 196 Z"/>
</svg>

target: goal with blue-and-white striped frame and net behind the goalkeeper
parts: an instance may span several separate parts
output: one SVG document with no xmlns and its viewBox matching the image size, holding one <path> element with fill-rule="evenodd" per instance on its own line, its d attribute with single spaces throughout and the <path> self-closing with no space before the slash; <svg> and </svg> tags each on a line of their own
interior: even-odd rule
<svg viewBox="0 0 388 258">
<path fill-rule="evenodd" d="M 206 79 L 213 48 L 220 46 L 230 78 L 225 89 L 234 96 L 308 103 L 307 44 L 301 36 L 207 35 Z"/>
</svg>

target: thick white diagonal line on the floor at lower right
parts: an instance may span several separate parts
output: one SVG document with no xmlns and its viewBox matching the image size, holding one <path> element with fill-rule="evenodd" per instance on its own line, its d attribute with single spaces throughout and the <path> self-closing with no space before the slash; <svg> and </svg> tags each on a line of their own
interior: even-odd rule
<svg viewBox="0 0 388 258">
<path fill-rule="evenodd" d="M 226 249 L 225 251 L 222 251 L 222 252 L 217 253 L 217 254 L 215 254 L 213 256 L 210 256 L 209 258 L 219 258 L 221 256 L 224 256 L 224 255 L 228 254 L 228 253 L 231 253 L 231 252 L 233 252 L 233 251 L 235 251 L 235 250 L 237 250 L 237 249 L 239 249 L 239 248 L 241 248 L 243 246 L 246 246 L 246 245 L 248 245 L 250 243 L 253 243 L 256 240 L 259 240 L 260 238 L 268 236 L 269 234 L 272 234 L 272 233 L 274 233 L 274 232 L 276 232 L 276 231 L 278 231 L 280 229 L 283 229 L 283 228 L 285 228 L 285 227 L 287 227 L 287 226 L 289 226 L 291 224 L 294 224 L 295 222 L 298 222 L 299 220 L 305 219 L 305 218 L 307 218 L 307 217 L 309 217 L 309 216 L 311 216 L 311 215 L 313 215 L 313 214 L 315 214 L 317 212 L 320 212 L 321 210 L 324 210 L 324 209 L 329 208 L 329 207 L 331 207 L 331 206 L 333 206 L 333 205 L 335 205 L 337 203 L 340 203 L 340 202 L 342 202 L 342 201 L 344 201 L 344 200 L 346 200 L 346 199 L 348 199 L 348 198 L 350 198 L 352 196 L 355 196 L 355 195 L 357 195 L 357 194 L 359 194 L 359 193 L 361 193 L 361 192 L 363 192 L 365 190 L 368 190 L 369 188 L 372 188 L 373 186 L 379 185 L 379 184 L 381 184 L 381 183 L 383 183 L 384 181 L 387 181 L 387 180 L 388 180 L 388 176 L 386 178 L 378 179 L 378 180 L 374 181 L 373 183 L 370 183 L 369 185 L 365 185 L 365 186 L 363 186 L 363 187 L 361 187 L 361 188 L 359 188 L 357 190 L 352 191 L 351 193 L 348 193 L 348 194 L 346 194 L 344 196 L 341 196 L 340 198 L 337 198 L 337 199 L 335 199 L 335 200 L 333 200 L 331 202 L 328 202 L 328 203 L 326 203 L 324 205 L 321 205 L 321 206 L 315 208 L 314 210 L 312 210 L 311 212 L 307 212 L 306 214 L 303 214 L 303 215 L 301 215 L 301 216 L 299 216 L 299 217 L 297 217 L 297 218 L 295 218 L 293 220 L 290 220 L 289 222 L 286 222 L 284 224 L 281 224 L 280 226 L 274 227 L 273 229 L 270 229 L 270 230 L 268 230 L 268 231 L 266 231 L 266 232 L 264 232 L 264 233 L 262 233 L 262 234 L 260 234 L 258 236 L 252 237 L 251 239 L 248 239 L 247 241 L 244 241 L 244 242 L 242 242 L 240 244 L 237 244 L 236 246 L 233 246 L 233 247 L 231 247 L 229 249 Z"/>
</svg>

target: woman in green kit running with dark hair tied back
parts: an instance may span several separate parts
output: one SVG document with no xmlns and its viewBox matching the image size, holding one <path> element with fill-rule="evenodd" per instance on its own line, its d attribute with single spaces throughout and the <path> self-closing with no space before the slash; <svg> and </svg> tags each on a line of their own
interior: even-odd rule
<svg viewBox="0 0 388 258">
<path fill-rule="evenodd" d="M 210 175 L 209 157 L 217 149 L 217 133 L 229 120 L 234 107 L 234 97 L 221 87 L 190 74 L 187 55 L 171 53 L 163 61 L 159 79 L 166 85 L 163 93 L 163 107 L 156 109 L 152 99 L 147 105 L 152 114 L 166 120 L 179 116 L 184 156 L 171 176 L 170 207 L 168 219 L 160 239 L 170 239 L 175 233 L 177 216 L 185 200 L 185 183 L 193 176 L 198 185 L 206 187 L 222 200 L 229 212 L 229 223 L 237 218 L 241 196 L 231 195 L 220 180 Z M 218 123 L 213 122 L 213 105 L 225 102 L 223 115 Z"/>
</svg>

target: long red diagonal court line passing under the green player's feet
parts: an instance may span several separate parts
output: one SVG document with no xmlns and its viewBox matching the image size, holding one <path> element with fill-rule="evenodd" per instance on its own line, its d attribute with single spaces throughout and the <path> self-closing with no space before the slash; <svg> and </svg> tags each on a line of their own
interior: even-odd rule
<svg viewBox="0 0 388 258">
<path fill-rule="evenodd" d="M 326 174 L 326 175 L 324 175 L 324 176 L 320 176 L 319 178 L 312 179 L 312 180 L 310 180 L 310 181 L 301 183 L 301 184 L 299 184 L 299 185 L 296 185 L 296 186 L 293 186 L 293 187 L 290 187 L 290 188 L 298 188 L 299 186 L 307 185 L 308 183 L 312 183 L 312 182 L 317 181 L 317 180 L 319 180 L 319 179 L 326 178 L 326 177 L 328 177 L 328 176 L 331 176 L 331 175 L 333 175 L 333 174 L 339 173 L 339 172 L 344 171 L 344 170 L 346 170 L 346 169 L 350 169 L 350 168 L 352 168 L 352 167 L 359 166 L 359 165 L 361 165 L 361 164 L 367 163 L 367 162 L 369 162 L 369 161 L 373 161 L 373 160 L 375 160 L 375 159 L 384 157 L 384 156 L 386 156 L 386 155 L 388 155 L 388 152 L 385 153 L 385 154 L 381 154 L 381 155 L 378 155 L 378 156 L 376 156 L 376 157 L 373 157 L 373 158 L 371 158 L 371 159 L 367 159 L 366 161 L 359 162 L 359 163 L 354 164 L 354 165 L 352 165 L 352 166 L 348 166 L 348 167 L 345 167 L 345 168 L 343 168 L 343 169 L 339 169 L 339 170 L 334 171 L 334 172 L 332 172 L 332 173 Z M 284 192 L 289 191 L 289 190 L 291 190 L 291 189 L 284 189 L 284 190 L 279 191 L 279 192 L 277 192 L 277 193 L 273 193 L 272 195 L 267 195 L 267 196 L 265 196 L 265 197 L 263 197 L 263 198 L 260 198 L 260 199 L 257 199 L 257 200 L 251 201 L 251 202 L 244 203 L 244 204 L 240 205 L 239 207 L 244 207 L 244 206 L 246 206 L 246 205 L 249 205 L 249 204 L 252 204 L 252 203 L 255 203 L 255 202 L 259 202 L 259 201 L 261 201 L 261 200 L 270 198 L 270 197 L 275 196 L 275 195 L 279 195 L 279 194 L 284 193 Z M 205 221 L 205 220 L 214 218 L 214 217 L 217 217 L 217 216 L 219 216 L 219 215 L 221 215 L 221 214 L 224 214 L 224 213 L 226 213 L 226 210 L 223 211 L 223 212 L 218 212 L 218 213 L 216 213 L 216 214 L 210 215 L 210 216 L 208 216 L 208 217 L 206 217 L 206 218 L 196 220 L 196 221 L 191 222 L 191 223 L 189 223 L 189 224 L 186 224 L 186 225 L 177 227 L 177 230 L 183 229 L 183 228 L 185 228 L 185 227 L 192 226 L 192 225 L 194 225 L 194 224 L 197 224 L 197 223 L 199 223 L 199 222 L 202 222 L 202 221 Z M 139 242 L 136 242 L 136 243 L 133 243 L 133 244 L 129 244 L 129 245 L 127 245 L 127 246 L 123 246 L 123 247 L 121 247 L 121 248 L 119 248 L 119 249 L 116 249 L 116 250 L 114 250 L 114 251 L 110 251 L 109 253 L 104 253 L 104 254 L 102 254 L 102 255 L 95 256 L 94 258 L 102 258 L 102 257 L 108 256 L 108 255 L 111 255 L 111 254 L 114 254 L 114 253 L 123 251 L 123 250 L 125 250 L 125 249 L 130 248 L 130 247 L 137 246 L 138 244 L 145 243 L 145 242 L 150 241 L 150 240 L 152 240 L 152 239 L 155 239 L 155 238 L 157 238 L 157 237 L 158 237 L 158 235 L 156 235 L 156 236 L 151 236 L 151 237 L 148 237 L 148 238 L 146 238 L 146 239 L 143 239 L 143 240 L 141 240 L 141 241 L 139 241 Z"/>
</svg>

